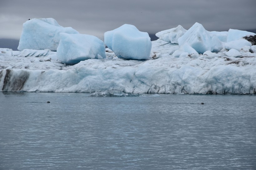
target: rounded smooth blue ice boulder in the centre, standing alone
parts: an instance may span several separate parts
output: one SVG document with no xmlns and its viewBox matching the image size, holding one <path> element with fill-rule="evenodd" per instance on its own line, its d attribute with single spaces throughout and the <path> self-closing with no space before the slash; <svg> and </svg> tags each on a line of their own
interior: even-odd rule
<svg viewBox="0 0 256 170">
<path fill-rule="evenodd" d="M 151 51 L 151 40 L 147 32 L 140 32 L 135 26 L 124 24 L 104 34 L 105 45 L 118 58 L 148 59 Z"/>
</svg>

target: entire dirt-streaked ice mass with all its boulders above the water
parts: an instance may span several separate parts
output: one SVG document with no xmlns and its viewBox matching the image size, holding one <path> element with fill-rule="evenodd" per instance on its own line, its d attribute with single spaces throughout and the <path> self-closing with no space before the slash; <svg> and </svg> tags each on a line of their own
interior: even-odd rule
<svg viewBox="0 0 256 170">
<path fill-rule="evenodd" d="M 125 24 L 103 42 L 53 18 L 28 20 L 19 51 L 0 48 L 0 91 L 256 93 L 255 33 L 195 23 L 156 36 Z"/>
</svg>

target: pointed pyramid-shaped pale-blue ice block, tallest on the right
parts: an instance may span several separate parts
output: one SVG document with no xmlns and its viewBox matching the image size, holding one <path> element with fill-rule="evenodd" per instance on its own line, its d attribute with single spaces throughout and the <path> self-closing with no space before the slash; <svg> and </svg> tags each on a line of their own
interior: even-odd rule
<svg viewBox="0 0 256 170">
<path fill-rule="evenodd" d="M 195 23 L 184 35 L 178 39 L 180 46 L 188 43 L 198 53 L 203 54 L 205 51 L 219 52 L 223 49 L 222 42 L 215 35 L 206 31 L 204 27 Z"/>
</svg>

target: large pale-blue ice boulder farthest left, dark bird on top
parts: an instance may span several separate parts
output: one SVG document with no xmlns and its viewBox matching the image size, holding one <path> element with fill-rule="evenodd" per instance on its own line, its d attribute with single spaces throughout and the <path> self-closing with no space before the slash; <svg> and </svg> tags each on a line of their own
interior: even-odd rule
<svg viewBox="0 0 256 170">
<path fill-rule="evenodd" d="M 18 50 L 24 49 L 56 51 L 60 33 L 78 34 L 71 27 L 62 27 L 53 18 L 34 18 L 23 24 Z"/>
</svg>

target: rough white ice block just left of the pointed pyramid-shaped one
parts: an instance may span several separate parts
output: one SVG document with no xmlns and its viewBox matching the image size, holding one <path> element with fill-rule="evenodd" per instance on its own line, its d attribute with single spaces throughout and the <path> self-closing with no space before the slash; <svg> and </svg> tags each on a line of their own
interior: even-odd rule
<svg viewBox="0 0 256 170">
<path fill-rule="evenodd" d="M 178 38 L 185 34 L 185 30 L 182 26 L 177 26 L 169 30 L 164 30 L 156 33 L 155 35 L 163 41 L 170 42 L 172 44 L 178 44 Z"/>
</svg>

